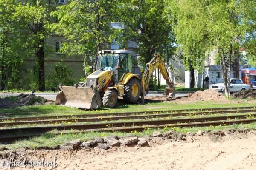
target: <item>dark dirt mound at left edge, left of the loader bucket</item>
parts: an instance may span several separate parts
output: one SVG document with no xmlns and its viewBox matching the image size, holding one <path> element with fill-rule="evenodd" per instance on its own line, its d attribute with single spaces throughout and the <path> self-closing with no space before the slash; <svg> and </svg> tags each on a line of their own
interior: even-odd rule
<svg viewBox="0 0 256 170">
<path fill-rule="evenodd" d="M 35 96 L 35 94 L 20 94 L 17 102 L 9 101 L 8 98 L 0 98 L 0 108 L 27 106 L 27 105 L 49 105 L 53 101 L 44 99 L 44 97 Z"/>
</svg>

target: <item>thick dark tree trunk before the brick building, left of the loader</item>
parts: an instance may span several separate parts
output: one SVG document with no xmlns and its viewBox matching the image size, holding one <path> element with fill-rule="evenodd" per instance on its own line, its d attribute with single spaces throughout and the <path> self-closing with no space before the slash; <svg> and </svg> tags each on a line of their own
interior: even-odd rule
<svg viewBox="0 0 256 170">
<path fill-rule="evenodd" d="M 38 57 L 38 70 L 39 70 L 39 90 L 45 91 L 45 77 L 44 77 L 44 39 L 40 39 L 38 42 L 38 51 L 36 52 Z"/>
</svg>

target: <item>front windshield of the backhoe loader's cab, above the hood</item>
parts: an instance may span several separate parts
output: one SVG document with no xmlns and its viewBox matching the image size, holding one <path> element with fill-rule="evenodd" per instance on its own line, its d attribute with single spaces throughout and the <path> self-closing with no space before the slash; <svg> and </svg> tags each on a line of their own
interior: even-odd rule
<svg viewBox="0 0 256 170">
<path fill-rule="evenodd" d="M 99 54 L 96 69 L 99 70 L 99 68 L 103 68 L 103 70 L 113 70 L 117 65 L 117 57 L 118 54 L 113 53 Z"/>
</svg>

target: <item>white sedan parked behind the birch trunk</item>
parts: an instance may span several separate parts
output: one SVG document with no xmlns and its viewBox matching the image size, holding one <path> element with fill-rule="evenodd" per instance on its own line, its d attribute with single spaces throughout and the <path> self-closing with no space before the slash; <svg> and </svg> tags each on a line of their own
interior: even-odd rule
<svg viewBox="0 0 256 170">
<path fill-rule="evenodd" d="M 223 79 L 220 79 L 217 84 L 209 85 L 209 88 L 216 89 L 219 92 L 224 91 Z M 230 92 L 249 90 L 250 85 L 244 84 L 241 79 L 230 79 Z"/>
</svg>

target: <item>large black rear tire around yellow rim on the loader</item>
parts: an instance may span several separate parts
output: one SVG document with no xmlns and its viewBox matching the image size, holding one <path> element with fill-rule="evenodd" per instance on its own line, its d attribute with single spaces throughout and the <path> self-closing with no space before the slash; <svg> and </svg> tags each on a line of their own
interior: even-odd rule
<svg viewBox="0 0 256 170">
<path fill-rule="evenodd" d="M 132 87 L 136 87 L 137 90 L 132 91 Z M 136 93 L 137 94 L 134 94 Z M 137 103 L 140 96 L 140 82 L 136 78 L 131 78 L 129 82 L 125 85 L 125 102 L 127 103 Z"/>
</svg>

